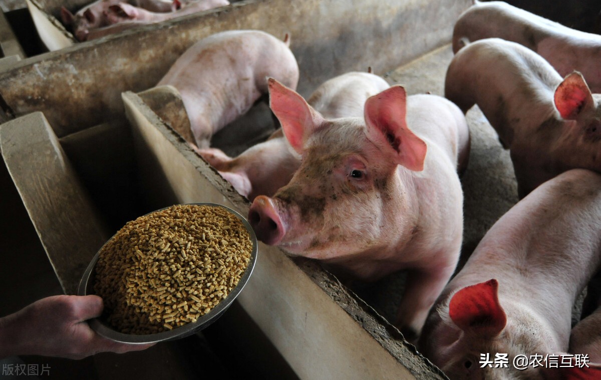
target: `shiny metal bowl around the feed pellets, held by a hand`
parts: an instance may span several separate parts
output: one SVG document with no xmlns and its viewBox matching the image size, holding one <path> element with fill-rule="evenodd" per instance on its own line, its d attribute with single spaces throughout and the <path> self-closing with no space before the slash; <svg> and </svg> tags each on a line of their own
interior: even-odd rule
<svg viewBox="0 0 601 380">
<path fill-rule="evenodd" d="M 208 313 L 206 313 L 203 316 L 201 316 L 200 318 L 198 318 L 196 322 L 186 323 L 186 325 L 176 327 L 169 331 L 157 332 L 156 334 L 134 335 L 134 334 L 124 334 L 123 332 L 116 331 L 111 326 L 109 326 L 105 321 L 103 321 L 102 317 L 93 318 L 93 319 L 88 320 L 90 327 L 94 331 L 96 331 L 98 334 L 100 334 L 101 336 L 103 336 L 105 338 L 114 340 L 115 342 L 122 342 L 122 343 L 145 344 L 145 343 L 162 342 L 165 340 L 181 339 L 181 338 L 190 336 L 192 334 L 195 334 L 196 332 L 201 331 L 202 329 L 209 326 L 211 323 L 215 322 L 215 320 L 218 319 L 225 312 L 225 310 L 227 310 L 228 307 L 230 307 L 231 303 L 234 301 L 234 299 L 236 299 L 236 297 L 240 294 L 240 292 L 242 292 L 243 287 L 246 285 L 246 283 L 248 282 L 248 279 L 251 277 L 252 269 L 254 268 L 255 262 L 257 261 L 257 251 L 258 251 L 257 236 L 255 235 L 254 230 L 252 230 L 251 225 L 246 220 L 246 218 L 244 218 L 242 215 L 240 215 L 240 213 L 230 209 L 230 207 L 226 207 L 226 206 L 223 206 L 221 204 L 216 204 L 216 203 L 189 203 L 189 204 L 224 207 L 224 209 L 226 209 L 229 212 L 236 215 L 240 219 L 240 221 L 242 221 L 242 224 L 246 227 L 246 230 L 248 230 L 248 233 L 250 234 L 251 241 L 252 241 L 251 260 L 249 261 L 248 266 L 246 267 L 246 270 L 242 274 L 242 277 L 240 278 L 240 281 L 238 282 L 236 287 L 234 287 L 234 289 L 231 290 L 231 292 L 224 299 L 219 301 L 219 303 L 215 307 L 213 307 Z M 164 209 L 159 209 L 156 211 L 165 210 L 168 208 L 169 207 L 165 207 Z M 111 239 L 112 239 L 112 237 L 111 237 Z M 110 241 L 110 239 L 109 239 L 109 241 Z M 88 265 L 88 268 L 85 270 L 84 276 L 82 277 L 81 282 L 79 283 L 78 295 L 94 294 L 94 283 L 95 283 L 95 278 L 96 278 L 96 276 L 95 276 L 96 271 L 94 269 L 96 268 L 96 262 L 98 261 L 101 250 L 102 250 L 102 248 L 100 248 L 100 250 L 96 253 L 94 258 L 90 262 L 90 265 Z"/>
</svg>

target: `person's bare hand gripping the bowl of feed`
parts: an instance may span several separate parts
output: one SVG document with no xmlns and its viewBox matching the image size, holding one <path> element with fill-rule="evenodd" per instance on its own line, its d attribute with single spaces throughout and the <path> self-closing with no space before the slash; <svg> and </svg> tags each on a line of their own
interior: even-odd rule
<svg viewBox="0 0 601 380">
<path fill-rule="evenodd" d="M 140 351 L 153 344 L 118 343 L 99 336 L 87 319 L 102 314 L 96 295 L 58 295 L 35 301 L 0 319 L 0 358 L 44 355 L 81 359 L 97 352 Z"/>
</svg>

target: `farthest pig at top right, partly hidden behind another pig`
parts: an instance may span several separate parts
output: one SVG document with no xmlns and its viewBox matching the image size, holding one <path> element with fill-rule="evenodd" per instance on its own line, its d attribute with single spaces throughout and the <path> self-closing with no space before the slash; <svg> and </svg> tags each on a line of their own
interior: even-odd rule
<svg viewBox="0 0 601 380">
<path fill-rule="evenodd" d="M 562 77 L 581 72 L 591 90 L 601 92 L 601 35 L 568 28 L 502 1 L 475 1 L 454 26 L 453 51 L 468 41 L 492 37 L 532 49 Z"/>
</svg>

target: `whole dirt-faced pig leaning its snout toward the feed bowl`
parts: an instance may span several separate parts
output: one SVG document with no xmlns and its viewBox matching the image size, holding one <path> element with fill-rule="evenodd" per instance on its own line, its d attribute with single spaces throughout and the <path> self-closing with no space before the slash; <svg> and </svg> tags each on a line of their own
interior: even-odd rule
<svg viewBox="0 0 601 380">
<path fill-rule="evenodd" d="M 443 97 L 394 85 L 367 99 L 364 117 L 324 118 L 269 81 L 270 106 L 301 166 L 248 219 L 258 239 L 323 262 L 342 278 L 376 281 L 407 270 L 395 321 L 414 340 L 459 257 L 469 147 L 465 117 Z"/>
</svg>

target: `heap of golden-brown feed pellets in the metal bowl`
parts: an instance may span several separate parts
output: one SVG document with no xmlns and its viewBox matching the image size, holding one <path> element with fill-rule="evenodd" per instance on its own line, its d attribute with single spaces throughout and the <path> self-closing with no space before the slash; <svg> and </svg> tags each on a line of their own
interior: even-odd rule
<svg viewBox="0 0 601 380">
<path fill-rule="evenodd" d="M 236 287 L 252 240 L 224 207 L 181 204 L 128 222 L 101 249 L 94 292 L 127 334 L 195 322 Z"/>
</svg>

